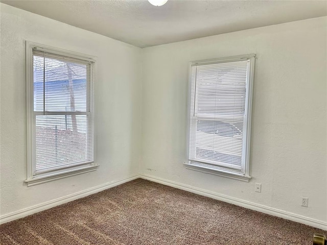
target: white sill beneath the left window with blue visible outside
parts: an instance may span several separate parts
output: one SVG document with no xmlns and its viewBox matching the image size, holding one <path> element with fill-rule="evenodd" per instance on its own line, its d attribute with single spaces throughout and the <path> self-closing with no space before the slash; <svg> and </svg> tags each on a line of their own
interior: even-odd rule
<svg viewBox="0 0 327 245">
<path fill-rule="evenodd" d="M 33 179 L 27 179 L 24 182 L 27 183 L 27 186 L 38 185 L 41 183 L 59 180 L 59 179 L 74 176 L 74 175 L 89 173 L 91 171 L 97 170 L 98 166 L 99 165 L 91 165 L 91 166 L 87 166 L 87 167 L 83 167 L 83 168 L 79 168 L 79 169 L 64 171 L 64 172 L 61 172 L 58 174 L 50 174 L 50 175 L 42 176 L 42 177 L 35 177 Z"/>
</svg>

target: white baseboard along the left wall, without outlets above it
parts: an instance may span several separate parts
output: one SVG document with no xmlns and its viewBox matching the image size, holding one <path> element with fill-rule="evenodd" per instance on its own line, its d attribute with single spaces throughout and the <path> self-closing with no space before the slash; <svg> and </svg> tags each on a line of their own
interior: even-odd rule
<svg viewBox="0 0 327 245">
<path fill-rule="evenodd" d="M 55 206 L 58 206 L 58 205 L 61 205 L 64 203 L 68 203 L 68 202 L 71 202 L 71 201 L 74 201 L 74 200 L 77 200 L 80 198 L 84 198 L 87 195 L 94 194 L 99 191 L 102 191 L 102 190 L 105 190 L 105 189 L 108 189 L 108 188 L 111 188 L 111 187 L 114 187 L 117 185 L 121 185 L 125 182 L 129 182 L 129 181 L 135 180 L 137 178 L 141 178 L 141 176 L 133 175 L 133 176 L 121 179 L 121 180 L 112 181 L 112 182 L 109 182 L 109 183 L 106 183 L 103 185 L 99 185 L 99 186 L 92 187 L 92 188 L 89 188 L 86 190 L 82 190 L 82 191 L 79 191 L 79 192 L 76 192 L 73 194 L 69 194 L 69 195 L 66 195 L 65 197 L 57 198 L 57 199 L 54 199 L 54 200 L 51 200 L 48 202 L 44 202 L 44 203 L 41 203 L 41 204 L 38 204 L 35 206 L 20 209 L 18 211 L 12 212 L 12 213 L 1 215 L 0 216 L 0 224 L 4 224 L 4 223 L 10 222 L 12 220 L 15 220 L 17 218 L 22 218 L 22 217 L 31 215 L 33 213 L 37 213 L 37 212 L 43 211 L 45 209 L 53 208 Z"/>
</svg>

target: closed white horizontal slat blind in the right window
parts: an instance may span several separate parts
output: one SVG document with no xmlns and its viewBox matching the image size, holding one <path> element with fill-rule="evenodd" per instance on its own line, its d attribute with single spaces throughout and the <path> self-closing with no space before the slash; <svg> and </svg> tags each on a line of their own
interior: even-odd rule
<svg viewBox="0 0 327 245">
<path fill-rule="evenodd" d="M 189 160 L 242 169 L 249 61 L 191 68 Z"/>
</svg>

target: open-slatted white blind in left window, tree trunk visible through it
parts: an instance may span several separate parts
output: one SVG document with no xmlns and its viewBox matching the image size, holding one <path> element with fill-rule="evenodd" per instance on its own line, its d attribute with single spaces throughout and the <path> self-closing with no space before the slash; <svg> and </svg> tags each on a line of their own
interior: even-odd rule
<svg viewBox="0 0 327 245">
<path fill-rule="evenodd" d="M 94 161 L 94 63 L 33 51 L 34 174 Z"/>
</svg>

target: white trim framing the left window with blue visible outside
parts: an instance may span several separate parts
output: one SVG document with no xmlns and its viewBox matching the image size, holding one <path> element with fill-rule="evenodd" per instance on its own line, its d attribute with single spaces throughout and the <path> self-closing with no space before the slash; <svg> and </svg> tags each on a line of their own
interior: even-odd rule
<svg viewBox="0 0 327 245">
<path fill-rule="evenodd" d="M 27 183 L 27 186 L 33 186 L 53 180 L 58 180 L 70 176 L 75 176 L 79 174 L 89 173 L 90 171 L 94 171 L 99 166 L 96 164 L 96 155 L 94 156 L 94 162 L 91 162 L 89 164 L 83 164 L 82 166 L 76 166 L 68 169 L 62 169 L 62 170 L 55 170 L 50 171 L 49 173 L 33 176 L 33 156 L 35 153 L 33 152 L 33 143 L 34 143 L 34 134 L 33 134 L 33 48 L 37 48 L 37 50 L 49 52 L 56 55 L 62 55 L 67 56 L 75 59 L 81 59 L 86 61 L 95 62 L 95 66 L 97 64 L 97 57 L 90 56 L 90 55 L 84 55 L 72 51 L 66 51 L 62 50 L 61 48 L 56 48 L 52 46 L 47 46 L 35 42 L 26 41 L 26 48 L 25 48 L 25 64 L 26 64 L 26 141 L 27 141 L 27 178 L 24 180 L 25 183 Z M 94 89 L 95 91 L 95 89 Z M 94 121 L 94 105 L 92 105 L 92 111 L 93 111 L 93 121 Z M 95 124 L 94 128 L 95 130 Z M 95 137 L 95 134 L 94 134 Z M 94 142 L 96 142 L 94 138 Z M 96 152 L 96 145 L 94 144 L 94 152 Z"/>
</svg>

